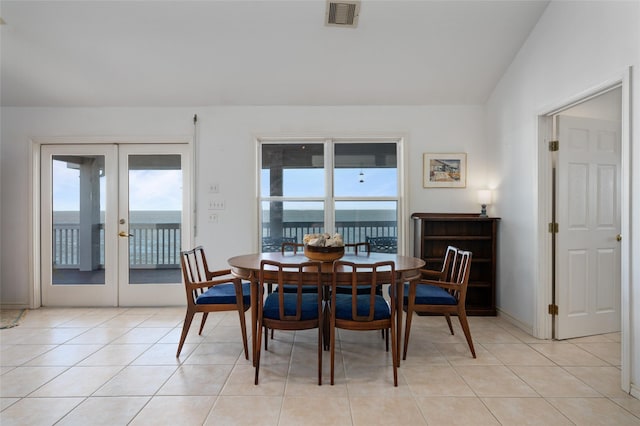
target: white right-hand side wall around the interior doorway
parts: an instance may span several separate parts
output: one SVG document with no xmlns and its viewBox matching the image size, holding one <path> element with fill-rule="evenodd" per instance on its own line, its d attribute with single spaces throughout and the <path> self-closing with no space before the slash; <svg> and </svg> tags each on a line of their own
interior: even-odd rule
<svg viewBox="0 0 640 426">
<path fill-rule="evenodd" d="M 554 1 L 532 31 L 487 103 L 489 150 L 500 166 L 489 177 L 498 185 L 500 233 L 498 305 L 521 323 L 535 327 L 538 274 L 537 116 L 560 107 L 634 66 L 636 105 L 632 126 L 640 129 L 640 3 Z M 631 142 L 633 170 L 640 166 L 640 132 Z M 640 176 L 632 174 L 632 192 Z M 632 199 L 631 310 L 640 312 L 640 200 Z M 635 242 L 633 242 L 635 241 Z M 635 296 L 633 296 L 635 293 Z M 640 383 L 640 316 L 632 314 L 632 383 Z"/>
</svg>

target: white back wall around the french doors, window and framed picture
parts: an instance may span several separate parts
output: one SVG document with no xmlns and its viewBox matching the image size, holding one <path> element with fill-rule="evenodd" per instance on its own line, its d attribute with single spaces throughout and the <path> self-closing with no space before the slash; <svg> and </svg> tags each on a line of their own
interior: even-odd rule
<svg viewBox="0 0 640 426">
<path fill-rule="evenodd" d="M 257 249 L 255 137 L 377 136 L 405 138 L 409 176 L 409 222 L 413 212 L 478 212 L 476 189 L 486 185 L 484 108 L 434 107 L 207 107 L 207 108 L 3 108 L 1 151 L 1 303 L 28 305 L 29 145 L 33 137 L 174 137 L 193 134 L 198 115 L 199 189 L 220 184 L 226 210 L 209 224 L 197 212 L 196 244 L 214 267 Z M 467 188 L 422 188 L 424 152 L 467 152 Z"/>
</svg>

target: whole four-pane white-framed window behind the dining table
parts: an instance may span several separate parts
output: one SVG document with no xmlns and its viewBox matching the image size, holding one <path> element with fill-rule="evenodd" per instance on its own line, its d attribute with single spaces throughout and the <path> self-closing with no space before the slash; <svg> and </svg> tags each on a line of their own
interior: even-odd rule
<svg viewBox="0 0 640 426">
<path fill-rule="evenodd" d="M 320 232 L 397 251 L 399 140 L 259 142 L 263 252 Z"/>
</svg>

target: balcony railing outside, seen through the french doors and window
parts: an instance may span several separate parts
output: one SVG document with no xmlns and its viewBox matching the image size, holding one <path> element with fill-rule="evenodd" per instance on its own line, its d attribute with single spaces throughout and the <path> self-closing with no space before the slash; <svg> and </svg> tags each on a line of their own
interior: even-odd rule
<svg viewBox="0 0 640 426">
<path fill-rule="evenodd" d="M 141 269 L 163 269 L 180 267 L 181 229 L 179 223 L 136 224 L 129 226 L 129 267 Z M 269 223 L 263 223 L 263 251 L 279 251 L 280 243 L 286 240 L 302 242 L 305 234 L 324 232 L 324 224 L 318 222 L 284 222 L 282 235 L 272 238 Z M 366 237 L 397 237 L 395 221 L 336 222 L 336 232 L 342 234 L 345 243 L 365 241 Z M 99 225 L 100 265 L 104 265 L 104 227 Z M 53 262 L 58 269 L 77 269 L 79 265 L 78 224 L 54 224 Z"/>
</svg>

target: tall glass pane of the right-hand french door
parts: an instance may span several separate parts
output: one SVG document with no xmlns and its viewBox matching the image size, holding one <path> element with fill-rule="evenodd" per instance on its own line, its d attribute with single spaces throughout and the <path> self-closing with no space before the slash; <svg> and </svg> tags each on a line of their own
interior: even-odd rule
<svg viewBox="0 0 640 426">
<path fill-rule="evenodd" d="M 180 155 L 129 156 L 129 283 L 181 281 Z"/>
</svg>

